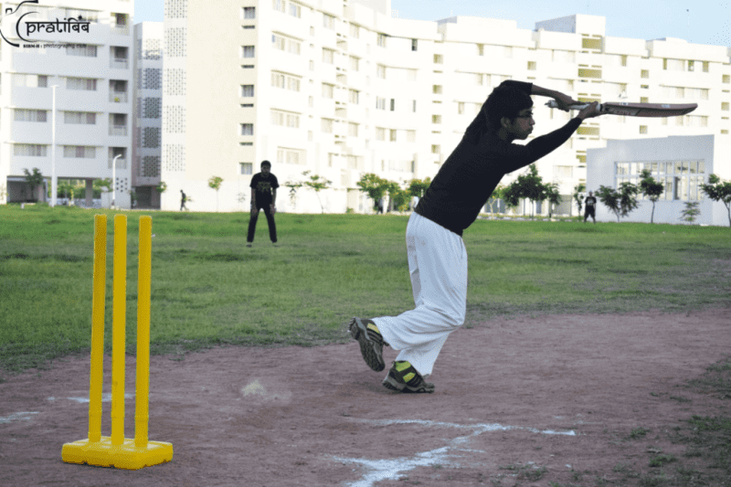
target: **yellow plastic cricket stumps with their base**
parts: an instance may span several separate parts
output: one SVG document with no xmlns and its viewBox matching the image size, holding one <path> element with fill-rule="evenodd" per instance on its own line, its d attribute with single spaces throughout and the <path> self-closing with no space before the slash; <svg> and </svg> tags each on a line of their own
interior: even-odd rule
<svg viewBox="0 0 731 487">
<path fill-rule="evenodd" d="M 150 281 L 153 218 L 140 217 L 137 282 L 137 387 L 134 438 L 124 438 L 124 351 L 127 286 L 127 217 L 114 217 L 112 281 L 111 436 L 101 436 L 101 389 L 104 382 L 104 300 L 107 269 L 107 217 L 94 217 L 94 279 L 91 298 L 89 438 L 66 443 L 63 461 L 138 470 L 173 460 L 173 445 L 148 441 L 150 396 Z"/>
</svg>

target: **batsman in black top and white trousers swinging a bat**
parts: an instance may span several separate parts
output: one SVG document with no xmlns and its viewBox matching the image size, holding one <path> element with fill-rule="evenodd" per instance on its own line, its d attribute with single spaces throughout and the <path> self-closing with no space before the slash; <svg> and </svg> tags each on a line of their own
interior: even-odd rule
<svg viewBox="0 0 731 487">
<path fill-rule="evenodd" d="M 521 81 L 504 81 L 493 90 L 408 218 L 408 271 L 416 308 L 398 316 L 353 318 L 348 324 L 365 363 L 376 372 L 386 368 L 384 345 L 401 351 L 383 381 L 388 389 L 434 392 L 434 385 L 424 379 L 447 337 L 464 323 L 467 309 L 462 231 L 477 218 L 503 175 L 554 151 L 584 119 L 599 115 L 597 103 L 591 103 L 562 128 L 525 145 L 514 144 L 533 132 L 530 95 L 553 98 L 564 111 L 577 103 L 558 91 Z"/>
</svg>

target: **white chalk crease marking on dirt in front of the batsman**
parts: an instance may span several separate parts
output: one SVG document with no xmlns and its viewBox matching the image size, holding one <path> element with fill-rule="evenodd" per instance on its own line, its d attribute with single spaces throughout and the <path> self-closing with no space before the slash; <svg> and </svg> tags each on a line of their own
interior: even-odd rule
<svg viewBox="0 0 731 487">
<path fill-rule="evenodd" d="M 458 423 L 445 423 L 439 421 L 429 421 L 423 419 L 361 419 L 360 421 L 374 424 L 376 426 L 392 426 L 392 425 L 408 425 L 415 424 L 426 427 L 438 427 L 438 428 L 455 428 L 455 429 L 471 429 L 472 433 L 468 436 L 458 437 L 452 439 L 446 447 L 441 447 L 434 450 L 423 451 L 417 453 L 411 458 L 402 457 L 390 460 L 368 460 L 368 459 L 355 459 L 355 458 L 343 458 L 334 457 L 335 461 L 342 463 L 355 463 L 365 468 L 365 474 L 360 480 L 355 482 L 346 483 L 351 487 L 373 487 L 375 482 L 381 482 L 385 480 L 398 480 L 404 477 L 405 472 L 412 471 L 417 467 L 428 467 L 430 465 L 450 465 L 459 467 L 460 464 L 452 459 L 460 458 L 463 455 L 457 452 L 478 452 L 484 453 L 482 450 L 468 450 L 459 448 L 461 445 L 465 445 L 471 439 L 471 437 L 479 436 L 482 433 L 490 431 L 509 431 L 513 429 L 523 429 L 530 431 L 531 433 L 541 433 L 545 435 L 563 435 L 563 436 L 577 436 L 576 431 L 573 429 L 567 431 L 556 431 L 553 429 L 536 429 L 536 428 L 525 428 L 521 426 L 504 426 L 498 423 L 477 423 L 462 425 Z M 450 453 L 450 450 L 455 453 Z"/>
</svg>

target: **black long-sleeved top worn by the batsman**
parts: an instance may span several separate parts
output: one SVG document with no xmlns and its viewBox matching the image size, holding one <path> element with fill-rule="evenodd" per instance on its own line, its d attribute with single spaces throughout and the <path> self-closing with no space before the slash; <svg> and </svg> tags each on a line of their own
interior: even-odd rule
<svg viewBox="0 0 731 487">
<path fill-rule="evenodd" d="M 503 84 L 528 94 L 533 88 L 531 83 L 522 81 L 503 81 Z M 484 115 L 481 112 L 477 116 Z M 579 125 L 581 120 L 575 118 L 525 145 L 506 143 L 493 132 L 482 134 L 477 142 L 465 134 L 419 200 L 416 212 L 461 236 L 462 231 L 477 219 L 503 175 L 533 164 L 554 151 L 576 132 Z"/>
</svg>

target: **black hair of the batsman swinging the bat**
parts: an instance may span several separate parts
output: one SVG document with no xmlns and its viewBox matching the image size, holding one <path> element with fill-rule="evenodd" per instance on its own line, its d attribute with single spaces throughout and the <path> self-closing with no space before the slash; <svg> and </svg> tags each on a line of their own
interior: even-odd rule
<svg viewBox="0 0 731 487">
<path fill-rule="evenodd" d="M 477 143 L 483 133 L 500 130 L 503 117 L 514 120 L 521 111 L 531 107 L 533 99 L 524 90 L 501 84 L 482 103 L 480 113 L 467 127 L 465 135 L 472 143 Z"/>
</svg>

